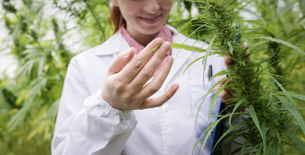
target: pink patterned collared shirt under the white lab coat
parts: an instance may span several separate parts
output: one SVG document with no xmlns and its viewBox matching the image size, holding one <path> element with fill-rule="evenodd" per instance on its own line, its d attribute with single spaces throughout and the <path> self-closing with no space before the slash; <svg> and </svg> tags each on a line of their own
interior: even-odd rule
<svg viewBox="0 0 305 155">
<path fill-rule="evenodd" d="M 127 32 L 127 30 L 125 29 L 125 26 L 122 25 L 121 26 L 121 33 L 123 35 L 123 37 L 126 39 L 127 43 L 131 46 L 135 48 L 136 54 L 138 55 L 145 47 L 141 44 L 139 44 L 137 41 L 135 41 L 135 39 L 133 39 L 131 37 L 131 35 L 129 35 L 129 33 Z M 172 35 L 173 33 L 170 31 L 170 29 L 167 27 L 166 24 L 164 24 L 163 28 L 160 30 L 160 32 L 156 35 L 156 38 L 162 38 L 163 42 L 172 42 Z M 153 39 L 152 39 L 153 40 Z M 164 57 L 164 59 L 167 56 L 171 55 L 171 49 L 167 52 L 166 56 Z M 155 76 L 157 74 L 157 72 L 160 70 L 161 65 L 164 62 L 164 59 L 162 60 L 162 62 L 160 63 L 160 65 L 158 66 L 158 69 L 156 70 L 155 74 L 153 76 Z"/>
</svg>

